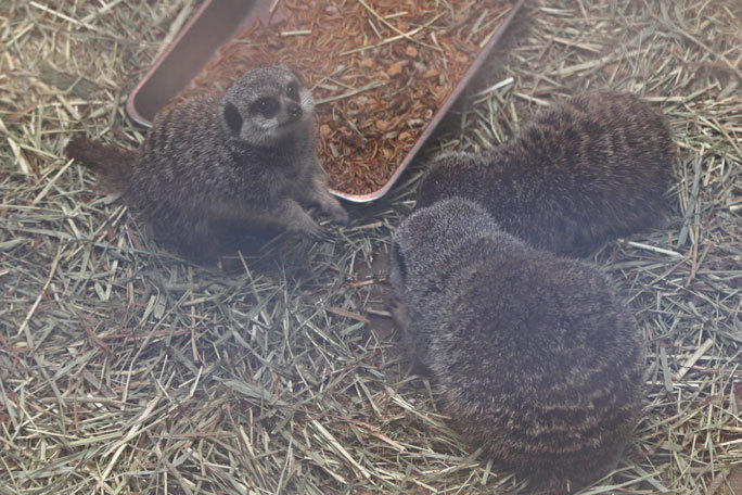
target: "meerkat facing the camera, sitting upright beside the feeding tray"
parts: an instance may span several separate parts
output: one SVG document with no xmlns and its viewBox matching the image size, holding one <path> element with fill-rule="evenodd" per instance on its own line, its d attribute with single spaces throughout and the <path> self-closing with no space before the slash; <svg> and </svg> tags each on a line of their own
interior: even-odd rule
<svg viewBox="0 0 742 495">
<path fill-rule="evenodd" d="M 234 228 L 280 226 L 322 240 L 305 206 L 341 224 L 348 215 L 327 189 L 314 111 L 296 72 L 258 67 L 223 94 L 161 112 L 136 152 L 75 138 L 66 153 L 121 192 L 157 238 L 195 257 L 213 257 Z"/>
</svg>

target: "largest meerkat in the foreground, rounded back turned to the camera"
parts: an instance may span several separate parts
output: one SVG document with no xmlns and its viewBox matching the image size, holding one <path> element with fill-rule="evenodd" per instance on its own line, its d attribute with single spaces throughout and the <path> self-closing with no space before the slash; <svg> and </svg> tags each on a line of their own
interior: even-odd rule
<svg viewBox="0 0 742 495">
<path fill-rule="evenodd" d="M 402 340 L 463 439 L 534 493 L 574 493 L 615 467 L 644 358 L 599 268 L 536 250 L 455 198 L 402 221 L 389 281 Z"/>
</svg>

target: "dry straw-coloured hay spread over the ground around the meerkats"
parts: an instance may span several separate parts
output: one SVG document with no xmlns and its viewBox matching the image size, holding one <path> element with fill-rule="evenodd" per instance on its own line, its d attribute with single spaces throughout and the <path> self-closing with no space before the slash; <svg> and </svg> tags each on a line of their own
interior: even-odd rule
<svg viewBox="0 0 742 495">
<path fill-rule="evenodd" d="M 192 8 L 0 4 L 0 493 L 527 493 L 457 441 L 367 322 L 384 306 L 362 274 L 419 167 L 334 244 L 223 274 L 149 245 L 61 156 L 79 131 L 136 145 L 123 98 Z M 594 255 L 638 315 L 649 386 L 630 452 L 586 494 L 742 491 L 740 15 L 534 2 L 428 147 L 495 145 L 584 88 L 644 94 L 670 120 L 678 220 Z"/>
</svg>

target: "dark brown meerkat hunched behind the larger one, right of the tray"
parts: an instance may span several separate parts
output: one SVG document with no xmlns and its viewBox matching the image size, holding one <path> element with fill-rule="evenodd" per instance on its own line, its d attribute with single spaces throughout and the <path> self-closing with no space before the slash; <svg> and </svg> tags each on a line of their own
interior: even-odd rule
<svg viewBox="0 0 742 495">
<path fill-rule="evenodd" d="M 588 92 L 538 113 L 503 145 L 431 164 L 418 205 L 461 196 L 536 248 L 567 253 L 662 226 L 676 149 L 637 97 Z"/>
</svg>

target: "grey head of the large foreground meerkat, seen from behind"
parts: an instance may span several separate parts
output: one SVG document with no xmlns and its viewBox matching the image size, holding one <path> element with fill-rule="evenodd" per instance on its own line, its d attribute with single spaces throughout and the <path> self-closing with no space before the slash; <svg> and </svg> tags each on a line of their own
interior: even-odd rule
<svg viewBox="0 0 742 495">
<path fill-rule="evenodd" d="M 479 205 L 453 198 L 407 217 L 392 237 L 389 282 L 405 297 L 408 287 L 435 283 L 436 272 L 455 261 L 459 248 L 497 228 Z"/>
</svg>

